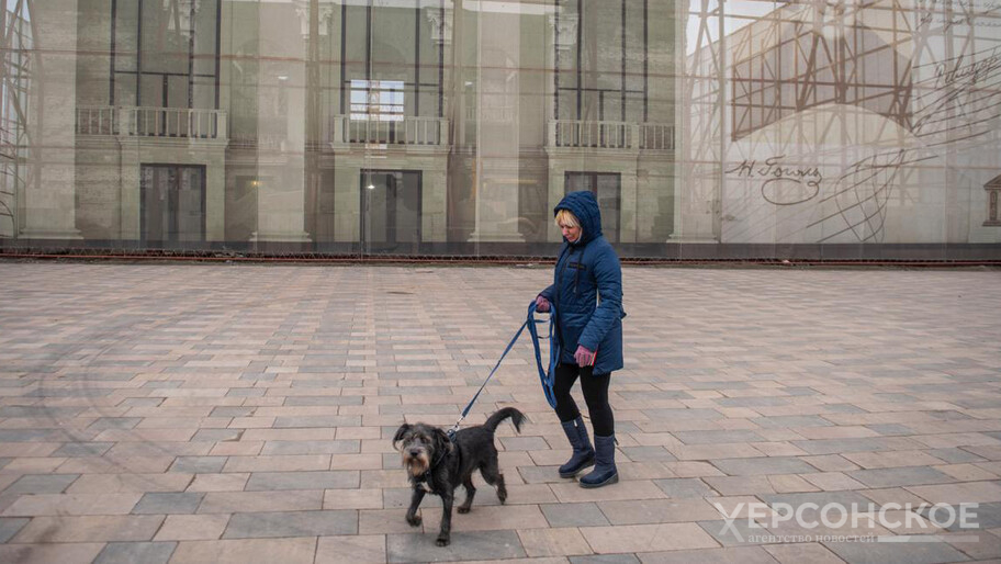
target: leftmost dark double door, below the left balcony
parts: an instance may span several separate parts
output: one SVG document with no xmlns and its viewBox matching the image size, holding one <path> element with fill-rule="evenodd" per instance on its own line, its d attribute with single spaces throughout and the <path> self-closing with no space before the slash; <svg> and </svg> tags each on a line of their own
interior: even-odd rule
<svg viewBox="0 0 1001 564">
<path fill-rule="evenodd" d="M 205 167 L 143 165 L 139 237 L 143 245 L 205 240 Z"/>
</svg>

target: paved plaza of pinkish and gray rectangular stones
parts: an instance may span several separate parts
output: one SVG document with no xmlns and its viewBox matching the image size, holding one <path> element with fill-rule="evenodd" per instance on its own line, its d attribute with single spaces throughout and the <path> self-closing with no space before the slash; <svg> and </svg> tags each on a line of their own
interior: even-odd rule
<svg viewBox="0 0 1001 564">
<path fill-rule="evenodd" d="M 558 477 L 526 335 L 466 419 L 528 416 L 507 504 L 477 475 L 436 546 L 391 438 L 453 424 L 550 279 L 0 262 L 0 562 L 1001 560 L 1001 271 L 974 269 L 626 268 L 620 483 Z M 778 509 L 806 504 L 895 518 Z"/>
</svg>

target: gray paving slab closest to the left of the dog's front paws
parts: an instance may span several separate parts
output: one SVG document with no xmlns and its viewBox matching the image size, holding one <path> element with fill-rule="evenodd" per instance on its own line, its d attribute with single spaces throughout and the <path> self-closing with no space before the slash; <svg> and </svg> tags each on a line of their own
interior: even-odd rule
<svg viewBox="0 0 1001 564">
<path fill-rule="evenodd" d="M 235 514 L 223 539 L 357 534 L 358 511 L 267 511 Z"/>
</svg>

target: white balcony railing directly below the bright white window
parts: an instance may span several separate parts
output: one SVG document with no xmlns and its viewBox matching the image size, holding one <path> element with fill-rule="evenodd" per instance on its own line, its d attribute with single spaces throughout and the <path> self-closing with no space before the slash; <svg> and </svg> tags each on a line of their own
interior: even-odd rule
<svg viewBox="0 0 1001 564">
<path fill-rule="evenodd" d="M 448 120 L 405 116 L 398 121 L 351 120 L 334 116 L 334 143 L 373 145 L 442 145 L 448 138 Z"/>
</svg>

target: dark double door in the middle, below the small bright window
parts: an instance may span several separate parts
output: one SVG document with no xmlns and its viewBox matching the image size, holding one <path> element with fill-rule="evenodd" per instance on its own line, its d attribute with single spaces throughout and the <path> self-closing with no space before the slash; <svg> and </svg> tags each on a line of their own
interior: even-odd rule
<svg viewBox="0 0 1001 564">
<path fill-rule="evenodd" d="M 420 172 L 361 171 L 363 252 L 416 253 L 420 244 Z"/>
</svg>

